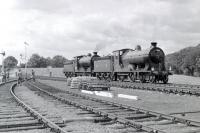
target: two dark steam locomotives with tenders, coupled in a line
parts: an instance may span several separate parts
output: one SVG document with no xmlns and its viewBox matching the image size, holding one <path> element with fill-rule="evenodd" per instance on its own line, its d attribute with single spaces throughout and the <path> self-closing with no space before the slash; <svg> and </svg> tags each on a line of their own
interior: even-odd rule
<svg viewBox="0 0 200 133">
<path fill-rule="evenodd" d="M 63 72 L 66 77 L 88 75 L 104 80 L 130 79 L 152 83 L 167 83 L 171 74 L 165 68 L 165 54 L 156 42 L 152 42 L 146 50 L 138 45 L 134 50 L 113 51 L 110 56 L 100 57 L 97 52 L 77 56 L 64 65 Z"/>
</svg>

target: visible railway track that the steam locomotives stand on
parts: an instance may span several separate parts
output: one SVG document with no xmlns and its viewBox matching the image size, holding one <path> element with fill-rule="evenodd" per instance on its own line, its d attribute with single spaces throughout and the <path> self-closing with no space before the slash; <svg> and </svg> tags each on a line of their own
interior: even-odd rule
<svg viewBox="0 0 200 133">
<path fill-rule="evenodd" d="M 45 77 L 38 76 L 39 79 L 48 79 L 55 81 L 66 81 L 66 78 L 61 77 Z M 119 82 L 119 81 L 103 81 L 104 85 L 110 87 L 121 87 L 126 89 L 138 89 L 148 91 L 158 91 L 163 93 L 180 94 L 200 96 L 200 85 L 188 85 L 188 84 L 151 84 L 151 83 L 132 83 L 132 82 Z"/>
</svg>

